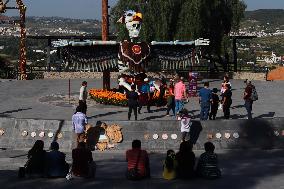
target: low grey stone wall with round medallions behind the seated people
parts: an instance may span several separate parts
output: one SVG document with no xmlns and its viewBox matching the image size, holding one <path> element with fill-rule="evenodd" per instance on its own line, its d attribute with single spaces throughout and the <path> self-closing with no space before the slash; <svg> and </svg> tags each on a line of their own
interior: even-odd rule
<svg viewBox="0 0 284 189">
<path fill-rule="evenodd" d="M 122 127 L 123 141 L 115 144 L 112 150 L 126 150 L 131 147 L 134 139 L 140 139 L 143 148 L 149 151 L 179 148 L 181 135 L 177 121 L 105 121 L 105 123 Z M 4 131 L 2 135 L 1 131 Z M 27 135 L 24 135 L 25 131 Z M 35 135 L 32 136 L 33 134 Z M 30 149 L 36 140 L 43 140 L 46 147 L 52 141 L 57 141 L 61 150 L 71 151 L 74 144 L 71 122 L 0 119 L 1 148 Z M 284 149 L 284 118 L 194 121 L 190 140 L 196 143 L 194 148 L 198 150 L 203 149 L 206 141 L 212 141 L 217 149 Z"/>
</svg>

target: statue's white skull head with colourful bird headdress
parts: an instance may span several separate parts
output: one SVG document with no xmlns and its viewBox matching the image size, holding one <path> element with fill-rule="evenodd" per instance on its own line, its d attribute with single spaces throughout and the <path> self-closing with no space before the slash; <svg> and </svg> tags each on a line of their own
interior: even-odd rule
<svg viewBox="0 0 284 189">
<path fill-rule="evenodd" d="M 119 22 L 125 24 L 130 38 L 137 38 L 139 36 L 142 24 L 142 14 L 133 10 L 124 12 Z"/>
</svg>

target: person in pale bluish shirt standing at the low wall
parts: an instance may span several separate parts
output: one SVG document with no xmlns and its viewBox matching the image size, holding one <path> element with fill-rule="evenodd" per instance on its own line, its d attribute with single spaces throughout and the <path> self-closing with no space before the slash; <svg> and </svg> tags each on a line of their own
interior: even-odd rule
<svg viewBox="0 0 284 189">
<path fill-rule="evenodd" d="M 76 108 L 76 113 L 72 116 L 73 130 L 76 135 L 77 144 L 83 142 L 85 136 L 85 125 L 88 123 L 86 114 L 82 112 L 82 107 Z"/>
</svg>

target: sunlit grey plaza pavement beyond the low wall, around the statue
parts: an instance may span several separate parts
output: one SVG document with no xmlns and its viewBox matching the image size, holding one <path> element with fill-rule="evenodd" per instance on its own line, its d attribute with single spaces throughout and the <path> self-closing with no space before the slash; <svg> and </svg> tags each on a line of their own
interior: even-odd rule
<svg viewBox="0 0 284 189">
<path fill-rule="evenodd" d="M 101 88 L 102 80 L 87 80 L 88 88 Z M 209 80 L 210 88 L 220 88 L 221 80 Z M 71 80 L 71 94 L 78 95 L 82 80 Z M 245 118 L 242 93 L 244 82 L 242 80 L 231 81 L 233 86 L 233 104 L 231 115 L 233 119 Z M 262 118 L 284 117 L 284 82 L 254 82 L 259 93 L 259 100 L 254 104 L 253 116 Z M 116 82 L 112 81 L 112 87 Z M 57 106 L 40 101 L 54 101 L 50 96 L 68 96 L 68 80 L 32 80 L 32 81 L 7 81 L 0 82 L 0 116 L 16 118 L 37 119 L 67 119 L 70 120 L 75 107 L 66 103 Z M 48 99 L 48 97 L 50 97 Z M 44 100 L 43 100 L 44 99 Z M 191 98 L 185 105 L 196 118 L 199 117 L 199 104 L 197 98 Z M 139 115 L 139 120 L 167 120 L 173 117 L 165 117 L 165 108 L 152 107 L 153 113 Z M 87 115 L 92 121 L 100 120 L 127 120 L 125 107 L 104 106 L 96 104 L 88 109 Z M 142 110 L 146 112 L 146 108 Z M 218 112 L 217 117 L 221 117 Z"/>
</svg>

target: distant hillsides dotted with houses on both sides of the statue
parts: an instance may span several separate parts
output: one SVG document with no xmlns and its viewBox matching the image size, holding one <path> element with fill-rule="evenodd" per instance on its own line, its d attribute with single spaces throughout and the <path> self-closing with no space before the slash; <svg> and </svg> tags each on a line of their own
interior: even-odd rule
<svg viewBox="0 0 284 189">
<path fill-rule="evenodd" d="M 4 55 L 7 60 L 14 62 L 19 53 L 20 32 L 15 24 L 17 20 L 17 17 L 0 14 L 0 56 Z M 26 26 L 28 36 L 100 35 L 101 32 L 100 21 L 60 17 L 28 17 Z M 284 63 L 283 9 L 247 11 L 239 31 L 230 35 L 257 37 L 252 40 L 238 40 L 239 63 L 270 67 Z M 44 40 L 27 40 L 29 64 L 45 65 L 46 45 Z M 56 61 L 56 49 L 51 58 Z"/>
</svg>

